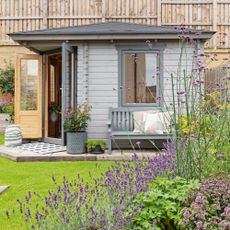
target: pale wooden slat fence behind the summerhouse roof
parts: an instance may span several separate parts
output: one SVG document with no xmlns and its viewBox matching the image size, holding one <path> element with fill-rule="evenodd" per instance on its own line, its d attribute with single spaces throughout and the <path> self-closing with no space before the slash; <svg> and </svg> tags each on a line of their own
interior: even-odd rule
<svg viewBox="0 0 230 230">
<path fill-rule="evenodd" d="M 216 30 L 207 46 L 230 48 L 230 0 L 0 0 L 0 44 L 16 31 L 108 21 Z"/>
</svg>

